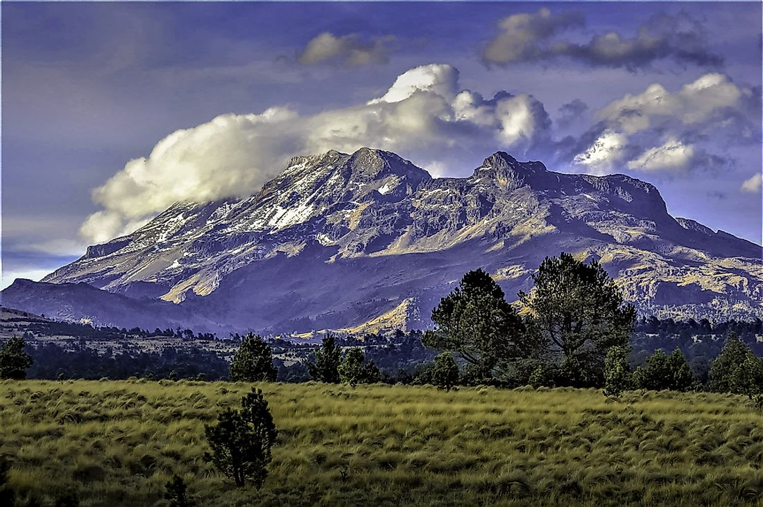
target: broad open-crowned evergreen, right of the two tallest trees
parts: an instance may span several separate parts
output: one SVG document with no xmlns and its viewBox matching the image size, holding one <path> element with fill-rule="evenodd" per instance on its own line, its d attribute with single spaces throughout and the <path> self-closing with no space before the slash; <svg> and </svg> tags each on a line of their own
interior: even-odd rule
<svg viewBox="0 0 763 507">
<path fill-rule="evenodd" d="M 626 346 L 636 310 L 598 262 L 586 265 L 568 253 L 546 257 L 533 274 L 535 287 L 519 293 L 530 310 L 530 343 L 548 358 L 561 355 L 562 370 L 578 383 L 601 385 L 604 359 L 613 346 Z"/>
</svg>

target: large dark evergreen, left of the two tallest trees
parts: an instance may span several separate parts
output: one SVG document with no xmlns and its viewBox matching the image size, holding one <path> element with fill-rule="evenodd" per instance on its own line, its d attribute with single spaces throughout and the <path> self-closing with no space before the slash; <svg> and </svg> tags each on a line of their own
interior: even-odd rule
<svg viewBox="0 0 763 507">
<path fill-rule="evenodd" d="M 516 310 L 481 269 L 464 274 L 432 310 L 432 321 L 436 329 L 424 333 L 423 345 L 454 351 L 479 371 L 503 373 L 510 361 L 533 352 Z"/>
</svg>

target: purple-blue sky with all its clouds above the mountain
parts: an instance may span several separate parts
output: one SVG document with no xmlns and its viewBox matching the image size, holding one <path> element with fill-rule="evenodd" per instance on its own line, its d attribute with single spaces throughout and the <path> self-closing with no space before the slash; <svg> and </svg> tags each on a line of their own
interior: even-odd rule
<svg viewBox="0 0 763 507">
<path fill-rule="evenodd" d="M 761 242 L 758 2 L 5 2 L 2 78 L 3 286 L 363 145 L 625 172 Z"/>
</svg>

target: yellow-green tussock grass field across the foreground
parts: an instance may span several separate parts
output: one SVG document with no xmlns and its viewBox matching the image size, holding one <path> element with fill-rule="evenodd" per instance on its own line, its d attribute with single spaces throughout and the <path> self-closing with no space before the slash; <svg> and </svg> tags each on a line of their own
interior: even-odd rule
<svg viewBox="0 0 763 507">
<path fill-rule="evenodd" d="M 278 426 L 261 490 L 202 458 L 243 383 L 0 382 L 11 486 L 52 505 L 763 505 L 763 413 L 740 396 L 262 384 Z"/>
</svg>

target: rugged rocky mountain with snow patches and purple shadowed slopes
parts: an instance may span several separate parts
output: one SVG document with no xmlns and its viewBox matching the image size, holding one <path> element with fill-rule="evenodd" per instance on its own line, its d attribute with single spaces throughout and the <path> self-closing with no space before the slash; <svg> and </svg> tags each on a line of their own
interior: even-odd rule
<svg viewBox="0 0 763 507">
<path fill-rule="evenodd" d="M 465 271 L 485 268 L 512 299 L 562 251 L 598 259 L 644 314 L 763 316 L 761 247 L 671 217 L 645 181 L 552 172 L 504 152 L 468 178 L 432 178 L 367 148 L 291 159 L 250 197 L 174 204 L 2 297 L 61 315 L 56 287 L 87 284 L 121 297 L 66 303 L 98 323 L 137 301 L 147 319 L 199 329 L 420 328 Z"/>
</svg>

